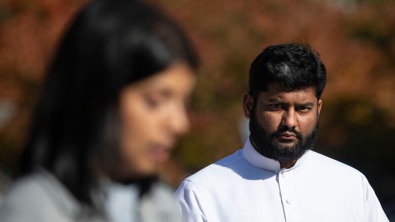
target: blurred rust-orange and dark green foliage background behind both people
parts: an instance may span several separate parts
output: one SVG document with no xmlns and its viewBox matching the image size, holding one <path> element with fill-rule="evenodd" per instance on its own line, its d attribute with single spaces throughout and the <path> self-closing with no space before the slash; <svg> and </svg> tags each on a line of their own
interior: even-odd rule
<svg viewBox="0 0 395 222">
<path fill-rule="evenodd" d="M 190 106 L 192 128 L 164 167 L 166 181 L 176 187 L 243 147 L 242 96 L 250 63 L 268 45 L 306 42 L 328 71 L 315 150 L 362 171 L 387 213 L 394 211 L 394 1 L 150 2 L 182 25 L 202 63 Z M 0 190 L 17 169 L 56 44 L 86 3 L 0 0 Z"/>
</svg>

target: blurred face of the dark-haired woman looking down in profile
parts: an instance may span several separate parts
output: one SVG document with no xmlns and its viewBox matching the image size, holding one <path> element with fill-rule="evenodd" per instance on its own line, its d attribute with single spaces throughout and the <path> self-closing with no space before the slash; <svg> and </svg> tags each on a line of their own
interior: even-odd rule
<svg viewBox="0 0 395 222">
<path fill-rule="evenodd" d="M 154 174 L 188 131 L 186 102 L 195 76 L 185 63 L 126 86 L 120 94 L 120 176 Z"/>
</svg>

